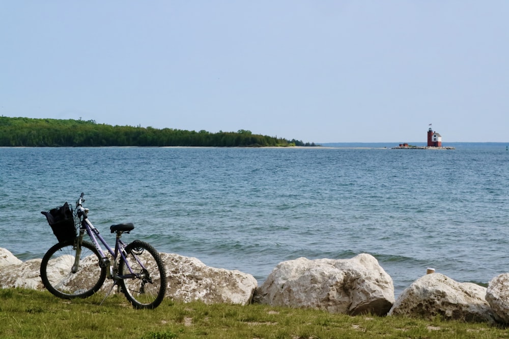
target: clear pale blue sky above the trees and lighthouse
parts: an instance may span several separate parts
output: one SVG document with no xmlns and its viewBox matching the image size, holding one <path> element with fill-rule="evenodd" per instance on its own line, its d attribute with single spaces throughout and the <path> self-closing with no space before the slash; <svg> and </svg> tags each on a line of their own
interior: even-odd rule
<svg viewBox="0 0 509 339">
<path fill-rule="evenodd" d="M 0 0 L 0 115 L 509 141 L 509 1 Z"/>
</svg>

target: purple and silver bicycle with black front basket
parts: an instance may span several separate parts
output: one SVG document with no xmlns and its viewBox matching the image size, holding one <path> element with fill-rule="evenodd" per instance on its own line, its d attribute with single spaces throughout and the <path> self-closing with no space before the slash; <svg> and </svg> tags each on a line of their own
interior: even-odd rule
<svg viewBox="0 0 509 339">
<path fill-rule="evenodd" d="M 76 201 L 74 212 L 67 202 L 41 212 L 59 240 L 42 258 L 44 287 L 63 299 L 85 298 L 110 279 L 113 285 L 102 302 L 117 286 L 135 309 L 154 309 L 166 293 L 166 271 L 159 253 L 145 241 L 122 241 L 122 234 L 134 229 L 132 223 L 110 227 L 111 233 L 116 233 L 115 248 L 111 248 L 90 222 L 89 209 L 82 206 L 83 196 L 81 193 Z M 92 242 L 83 240 L 85 233 Z"/>
</svg>

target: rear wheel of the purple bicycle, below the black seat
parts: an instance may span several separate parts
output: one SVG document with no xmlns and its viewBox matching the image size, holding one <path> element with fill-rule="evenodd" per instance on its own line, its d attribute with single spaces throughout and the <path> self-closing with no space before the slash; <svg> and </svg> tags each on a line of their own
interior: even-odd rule
<svg viewBox="0 0 509 339">
<path fill-rule="evenodd" d="M 125 248 L 127 263 L 137 276 L 120 281 L 122 292 L 135 309 L 154 309 L 166 294 L 166 269 L 159 253 L 145 241 L 134 240 Z M 141 264 L 140 264 L 141 263 Z M 124 258 L 119 275 L 129 275 Z"/>
</svg>

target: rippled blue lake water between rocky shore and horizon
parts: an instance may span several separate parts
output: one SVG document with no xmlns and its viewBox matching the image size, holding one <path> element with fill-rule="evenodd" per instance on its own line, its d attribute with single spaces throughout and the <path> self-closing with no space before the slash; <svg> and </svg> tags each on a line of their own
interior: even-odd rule
<svg viewBox="0 0 509 339">
<path fill-rule="evenodd" d="M 132 222 L 127 239 L 260 284 L 284 260 L 359 253 L 397 295 L 427 267 L 478 283 L 509 271 L 505 144 L 333 146 L 0 148 L 0 247 L 42 258 L 56 239 L 40 211 L 84 192 L 111 243 L 109 226 Z"/>
</svg>

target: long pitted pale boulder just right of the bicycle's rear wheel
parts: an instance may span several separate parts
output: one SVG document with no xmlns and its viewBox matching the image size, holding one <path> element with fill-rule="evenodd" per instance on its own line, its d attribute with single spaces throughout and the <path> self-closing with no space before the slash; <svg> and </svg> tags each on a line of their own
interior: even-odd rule
<svg viewBox="0 0 509 339">
<path fill-rule="evenodd" d="M 196 258 L 161 253 L 166 267 L 166 296 L 189 302 L 205 303 L 251 302 L 258 283 L 251 274 L 206 266 Z"/>
</svg>

